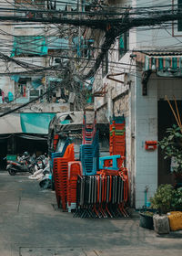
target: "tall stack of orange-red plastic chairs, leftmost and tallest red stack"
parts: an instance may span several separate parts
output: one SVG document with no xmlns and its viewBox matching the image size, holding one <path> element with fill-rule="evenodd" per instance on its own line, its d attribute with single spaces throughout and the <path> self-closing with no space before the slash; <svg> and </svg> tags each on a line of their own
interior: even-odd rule
<svg viewBox="0 0 182 256">
<path fill-rule="evenodd" d="M 66 210 L 67 203 L 68 162 L 72 161 L 75 161 L 74 144 L 69 144 L 66 147 L 66 152 L 63 157 L 54 159 L 53 174 L 55 179 L 57 206 L 60 208 L 62 205 L 63 210 Z"/>
</svg>

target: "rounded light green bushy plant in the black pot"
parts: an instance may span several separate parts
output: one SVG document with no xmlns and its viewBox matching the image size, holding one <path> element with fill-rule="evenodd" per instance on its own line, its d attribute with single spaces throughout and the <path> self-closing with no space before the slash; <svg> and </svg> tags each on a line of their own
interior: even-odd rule
<svg viewBox="0 0 182 256">
<path fill-rule="evenodd" d="M 172 209 L 173 197 L 176 191 L 171 185 L 160 185 L 154 197 L 150 198 L 151 207 L 156 208 L 159 214 L 165 214 Z"/>
</svg>

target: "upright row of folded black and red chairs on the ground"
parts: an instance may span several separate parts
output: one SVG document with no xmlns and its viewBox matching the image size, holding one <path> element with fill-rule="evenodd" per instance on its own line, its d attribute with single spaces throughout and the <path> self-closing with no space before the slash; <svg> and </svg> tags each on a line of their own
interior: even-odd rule
<svg viewBox="0 0 182 256">
<path fill-rule="evenodd" d="M 74 217 L 117 218 L 127 217 L 127 173 L 78 176 L 77 208 Z"/>
</svg>

